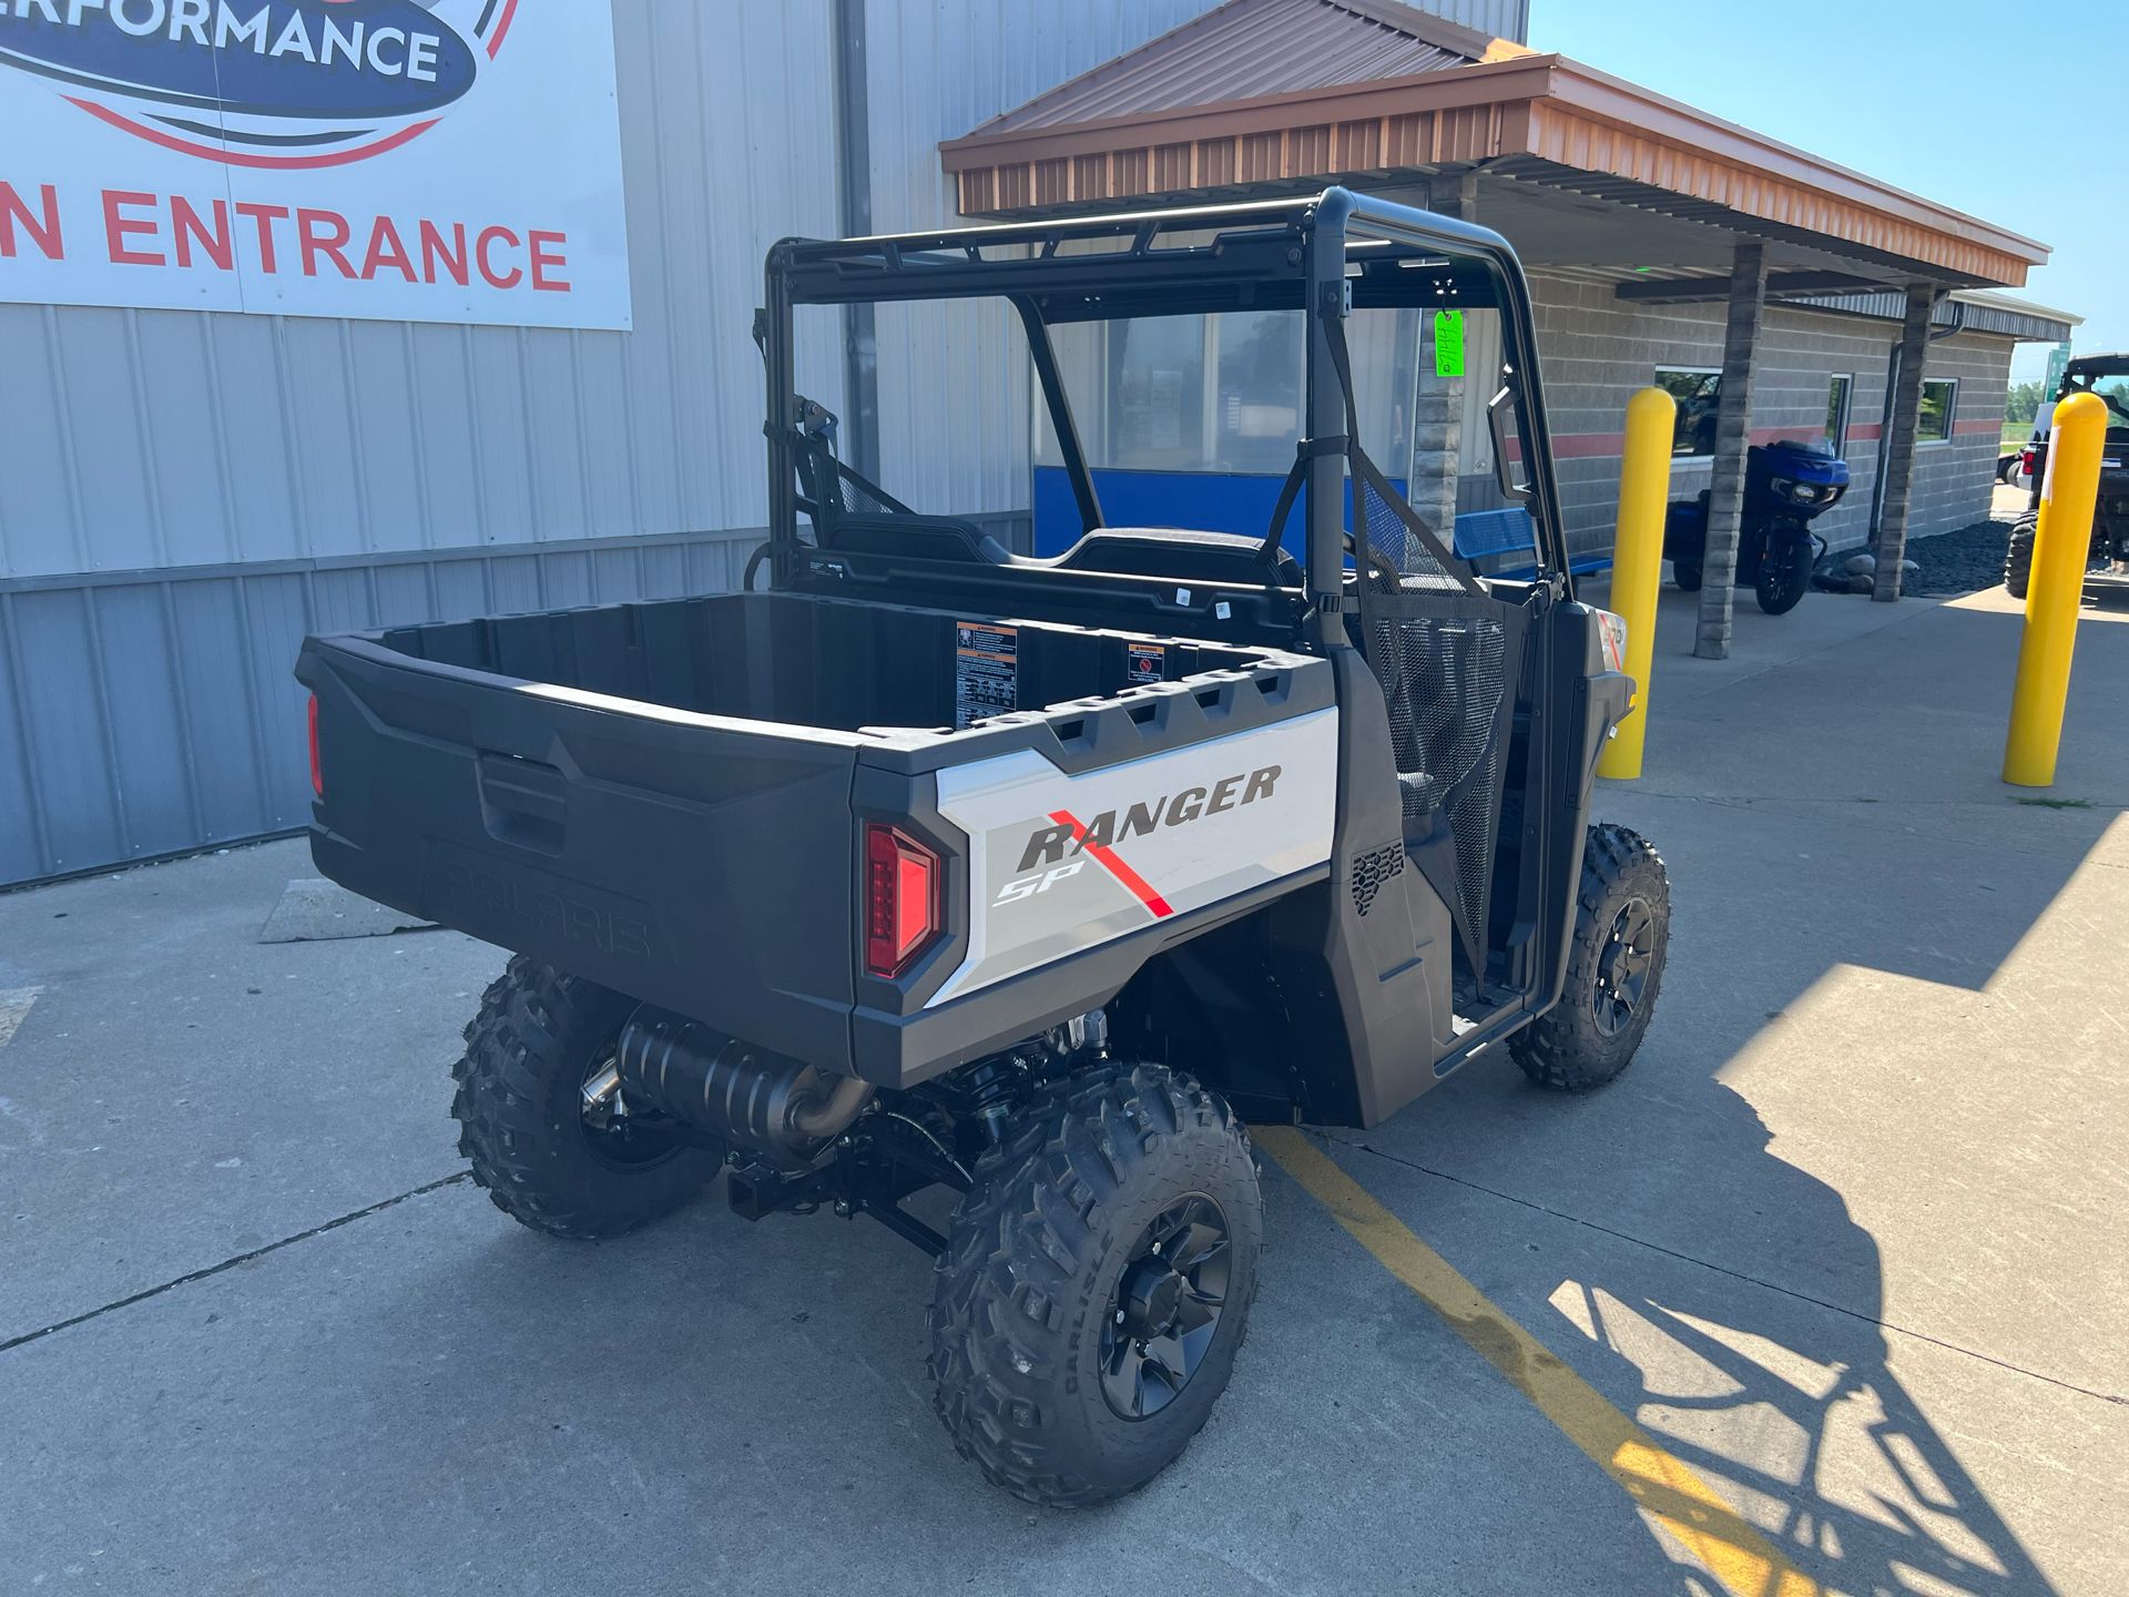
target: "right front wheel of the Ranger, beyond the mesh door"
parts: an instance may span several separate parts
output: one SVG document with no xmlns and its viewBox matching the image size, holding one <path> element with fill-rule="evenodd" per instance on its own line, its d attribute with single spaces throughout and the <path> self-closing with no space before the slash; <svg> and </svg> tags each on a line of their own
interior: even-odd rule
<svg viewBox="0 0 2129 1597">
<path fill-rule="evenodd" d="M 1590 826 L 1561 1001 L 1507 1039 L 1539 1086 L 1586 1092 L 1633 1063 L 1671 941 L 1671 879 L 1648 839 Z"/>
</svg>

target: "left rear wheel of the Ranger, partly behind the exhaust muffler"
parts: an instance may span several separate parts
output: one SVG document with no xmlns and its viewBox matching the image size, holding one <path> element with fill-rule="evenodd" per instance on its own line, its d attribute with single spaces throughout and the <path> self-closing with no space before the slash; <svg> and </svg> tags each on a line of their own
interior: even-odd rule
<svg viewBox="0 0 2129 1597">
<path fill-rule="evenodd" d="M 677 1209 L 715 1154 L 622 1114 L 613 1043 L 637 1001 L 519 954 L 451 1067 L 458 1152 L 496 1207 L 551 1237 L 617 1237 Z"/>
</svg>

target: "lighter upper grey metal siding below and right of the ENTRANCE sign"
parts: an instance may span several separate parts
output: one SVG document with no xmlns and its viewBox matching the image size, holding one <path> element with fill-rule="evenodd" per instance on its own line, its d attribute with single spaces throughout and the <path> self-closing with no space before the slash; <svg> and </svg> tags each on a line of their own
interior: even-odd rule
<svg viewBox="0 0 2129 1597">
<path fill-rule="evenodd" d="M 758 526 L 749 315 L 777 236 L 837 230 L 830 4 L 613 13 L 634 334 L 0 304 L 0 577 Z M 828 407 L 839 349 L 798 356 Z"/>
</svg>

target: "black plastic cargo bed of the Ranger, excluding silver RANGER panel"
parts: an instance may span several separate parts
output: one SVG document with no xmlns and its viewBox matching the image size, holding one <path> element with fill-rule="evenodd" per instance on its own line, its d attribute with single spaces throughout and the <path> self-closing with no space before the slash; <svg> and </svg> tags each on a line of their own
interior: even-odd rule
<svg viewBox="0 0 2129 1597">
<path fill-rule="evenodd" d="M 971 873 L 988 903 L 992 867 L 941 816 L 941 771 L 969 790 L 964 767 L 1033 754 L 1099 786 L 1118 764 L 1331 720 L 1309 656 L 805 594 L 321 637 L 296 675 L 317 696 L 326 875 L 888 1084 L 1030 1024 L 1026 992 L 1005 1003 L 984 986 L 996 975 L 971 979 Z M 947 860 L 947 937 L 892 984 L 858 958 L 869 816 Z M 1265 858 L 1252 879 L 1316 865 L 1307 841 Z M 1145 958 L 1118 943 L 1190 928 L 1177 909 L 1060 960 L 1037 1007 L 1082 1014 Z"/>
</svg>

